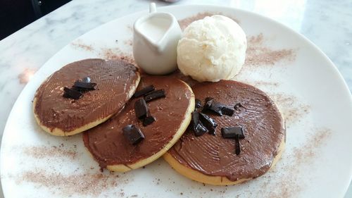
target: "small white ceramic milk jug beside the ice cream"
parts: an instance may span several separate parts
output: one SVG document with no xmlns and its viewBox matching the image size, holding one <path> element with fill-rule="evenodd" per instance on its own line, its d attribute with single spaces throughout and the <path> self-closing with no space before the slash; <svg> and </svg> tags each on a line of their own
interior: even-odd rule
<svg viewBox="0 0 352 198">
<path fill-rule="evenodd" d="M 176 49 L 181 37 L 175 16 L 156 12 L 156 4 L 151 3 L 149 14 L 133 25 L 134 61 L 151 75 L 171 73 L 177 68 Z"/>
</svg>

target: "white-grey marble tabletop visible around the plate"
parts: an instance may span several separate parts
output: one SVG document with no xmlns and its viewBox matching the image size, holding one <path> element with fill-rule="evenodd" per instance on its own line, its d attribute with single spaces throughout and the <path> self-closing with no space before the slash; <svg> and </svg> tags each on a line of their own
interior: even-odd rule
<svg viewBox="0 0 352 198">
<path fill-rule="evenodd" d="M 76 37 L 110 20 L 148 8 L 151 1 L 73 0 L 0 41 L 0 137 L 15 100 L 32 75 Z M 259 13 L 310 39 L 334 62 L 352 90 L 351 0 L 181 0 L 157 6 L 213 4 Z M 0 197 L 2 196 L 2 192 Z M 345 197 L 352 197 L 350 185 Z"/>
</svg>

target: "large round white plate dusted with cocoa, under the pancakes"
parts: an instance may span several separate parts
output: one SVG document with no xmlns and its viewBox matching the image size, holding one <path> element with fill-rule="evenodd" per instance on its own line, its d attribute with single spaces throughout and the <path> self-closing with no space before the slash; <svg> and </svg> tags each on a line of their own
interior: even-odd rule
<svg viewBox="0 0 352 198">
<path fill-rule="evenodd" d="M 132 23 L 142 12 L 82 35 L 50 58 L 23 89 L 1 144 L 5 197 L 343 197 L 352 175 L 352 99 L 327 56 L 284 25 L 246 11 L 216 6 L 160 10 L 179 19 L 207 11 L 239 21 L 249 36 L 251 57 L 236 79 L 268 92 L 287 120 L 287 148 L 277 166 L 227 187 L 184 178 L 163 159 L 129 173 L 101 175 L 81 135 L 54 137 L 37 126 L 32 99 L 43 80 L 82 58 L 131 54 Z"/>
</svg>

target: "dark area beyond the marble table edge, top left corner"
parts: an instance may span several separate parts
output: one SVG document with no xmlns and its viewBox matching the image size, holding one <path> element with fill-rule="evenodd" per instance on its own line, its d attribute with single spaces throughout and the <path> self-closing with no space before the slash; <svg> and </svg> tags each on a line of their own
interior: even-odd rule
<svg viewBox="0 0 352 198">
<path fill-rule="evenodd" d="M 0 0 L 0 40 L 71 0 Z"/>
</svg>

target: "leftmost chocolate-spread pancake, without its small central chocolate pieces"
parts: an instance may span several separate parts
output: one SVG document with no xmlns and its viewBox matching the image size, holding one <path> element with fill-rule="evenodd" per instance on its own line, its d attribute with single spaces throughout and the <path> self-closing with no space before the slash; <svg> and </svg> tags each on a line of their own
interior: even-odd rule
<svg viewBox="0 0 352 198">
<path fill-rule="evenodd" d="M 80 99 L 63 97 L 64 87 L 91 78 L 94 90 Z M 67 136 L 93 128 L 118 113 L 139 83 L 138 69 L 125 61 L 85 59 L 57 70 L 37 89 L 33 100 L 35 120 L 51 135 Z"/>
</svg>

